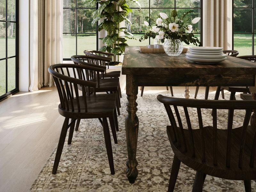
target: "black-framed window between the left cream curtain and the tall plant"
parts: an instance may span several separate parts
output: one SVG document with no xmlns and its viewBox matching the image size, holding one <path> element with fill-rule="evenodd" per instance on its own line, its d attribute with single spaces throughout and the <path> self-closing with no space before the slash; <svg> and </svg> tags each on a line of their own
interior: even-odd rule
<svg viewBox="0 0 256 192">
<path fill-rule="evenodd" d="M 98 26 L 91 25 L 98 5 L 90 1 L 63 0 L 63 60 L 83 55 L 85 49 L 98 50 Z"/>
</svg>

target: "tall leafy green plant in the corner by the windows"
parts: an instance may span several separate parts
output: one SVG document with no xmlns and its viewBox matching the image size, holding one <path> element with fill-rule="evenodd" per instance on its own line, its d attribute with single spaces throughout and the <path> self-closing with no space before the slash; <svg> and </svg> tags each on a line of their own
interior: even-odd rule
<svg viewBox="0 0 256 192">
<path fill-rule="evenodd" d="M 130 0 L 134 3 L 140 4 L 137 0 Z M 108 35 L 104 38 L 99 38 L 102 40 L 102 43 L 106 43 L 105 46 L 102 46 L 99 51 L 107 51 L 114 53 L 115 55 L 124 54 L 125 46 L 128 46 L 125 42 L 127 39 L 134 39 L 133 35 L 127 32 L 127 28 L 120 27 L 120 23 L 124 20 L 129 22 L 131 21 L 126 18 L 129 12 L 132 12 L 132 9 L 129 8 L 126 4 L 126 0 L 92 0 L 91 3 L 99 3 L 99 8 L 93 13 L 92 25 L 94 25 L 98 20 L 104 18 L 104 20 L 99 24 L 98 31 L 106 30 Z M 121 9 L 120 9 L 121 8 Z M 122 32 L 122 33 L 121 33 Z M 120 35 L 124 34 L 124 35 Z M 126 36 L 130 35 L 130 36 Z"/>
</svg>

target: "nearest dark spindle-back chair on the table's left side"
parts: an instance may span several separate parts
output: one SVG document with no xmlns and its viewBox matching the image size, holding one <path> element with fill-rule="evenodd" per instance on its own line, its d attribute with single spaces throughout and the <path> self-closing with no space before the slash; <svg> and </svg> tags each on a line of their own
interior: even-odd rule
<svg viewBox="0 0 256 192">
<path fill-rule="evenodd" d="M 100 120 L 102 118 L 110 172 L 111 174 L 115 174 L 107 118 L 109 118 L 114 141 L 117 143 L 115 129 L 116 94 L 96 95 L 97 83 L 92 80 L 96 72 L 104 72 L 104 69 L 74 64 L 55 64 L 50 66 L 48 71 L 53 76 L 58 89 L 60 97 L 59 113 L 65 117 L 60 133 L 60 140 L 53 164 L 52 174 L 57 172 L 68 128 L 68 144 L 71 144 L 76 119 L 91 118 L 99 118 Z M 71 77 L 71 73 L 74 74 L 74 77 Z M 93 75 L 89 76 L 88 74 Z M 78 86 L 82 88 L 82 92 L 78 91 Z M 88 89 L 90 90 L 89 92 Z M 90 94 L 91 92 L 93 94 Z M 69 119 L 71 120 L 70 124 Z"/>
</svg>

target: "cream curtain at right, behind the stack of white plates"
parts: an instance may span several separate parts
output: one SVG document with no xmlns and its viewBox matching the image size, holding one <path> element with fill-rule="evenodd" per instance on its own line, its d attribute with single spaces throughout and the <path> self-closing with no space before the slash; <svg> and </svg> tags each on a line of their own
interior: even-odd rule
<svg viewBox="0 0 256 192">
<path fill-rule="evenodd" d="M 203 45 L 232 48 L 232 1 L 203 0 Z"/>
</svg>

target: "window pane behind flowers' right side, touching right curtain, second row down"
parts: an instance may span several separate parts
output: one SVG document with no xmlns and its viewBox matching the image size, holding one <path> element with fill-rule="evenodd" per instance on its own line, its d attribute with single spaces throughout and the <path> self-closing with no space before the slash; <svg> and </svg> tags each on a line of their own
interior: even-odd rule
<svg viewBox="0 0 256 192">
<path fill-rule="evenodd" d="M 177 9 L 177 13 L 178 13 L 178 17 L 181 17 L 184 12 L 188 12 L 191 9 Z M 185 16 L 185 19 L 188 19 L 188 24 L 191 23 L 192 19 L 196 18 L 196 17 L 201 17 L 200 16 L 200 9 L 193 9 L 194 12 L 189 13 L 188 15 Z M 201 27 L 201 20 L 199 20 L 199 22 L 197 22 L 196 24 L 192 24 L 193 26 L 193 33 L 200 33 L 200 27 Z"/>
</svg>

